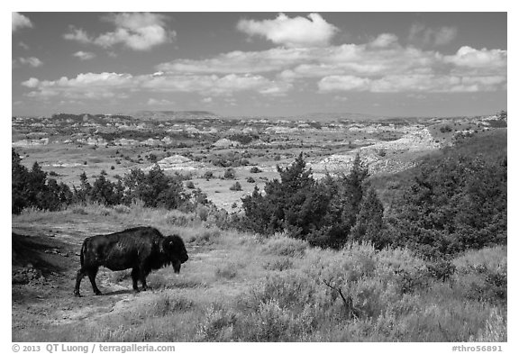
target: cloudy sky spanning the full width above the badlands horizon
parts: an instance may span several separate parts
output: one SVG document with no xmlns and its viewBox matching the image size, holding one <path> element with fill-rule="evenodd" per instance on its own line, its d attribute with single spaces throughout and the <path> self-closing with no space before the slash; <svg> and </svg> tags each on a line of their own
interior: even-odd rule
<svg viewBox="0 0 519 354">
<path fill-rule="evenodd" d="M 12 113 L 496 113 L 506 27 L 506 13 L 13 13 Z"/>
</svg>

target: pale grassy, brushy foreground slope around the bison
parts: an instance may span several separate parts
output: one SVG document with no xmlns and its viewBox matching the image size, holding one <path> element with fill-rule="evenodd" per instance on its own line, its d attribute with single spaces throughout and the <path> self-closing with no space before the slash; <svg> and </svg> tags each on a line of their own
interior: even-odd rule
<svg viewBox="0 0 519 354">
<path fill-rule="evenodd" d="M 141 205 L 13 216 L 13 340 L 506 340 L 506 247 L 436 264 L 405 249 L 321 250 L 220 230 L 205 216 Z M 181 274 L 160 269 L 151 291 L 134 294 L 129 271 L 102 270 L 105 295 L 84 279 L 74 297 L 83 239 L 140 224 L 183 237 Z"/>
</svg>

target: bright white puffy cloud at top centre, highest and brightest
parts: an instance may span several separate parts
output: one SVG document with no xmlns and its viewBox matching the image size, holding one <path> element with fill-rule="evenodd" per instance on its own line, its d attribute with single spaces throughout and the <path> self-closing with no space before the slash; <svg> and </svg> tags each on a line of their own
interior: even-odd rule
<svg viewBox="0 0 519 354">
<path fill-rule="evenodd" d="M 309 14 L 308 18 L 278 14 L 274 20 L 263 21 L 243 19 L 237 24 L 237 29 L 287 47 L 326 46 L 338 32 L 337 27 L 327 23 L 320 14 Z"/>
</svg>

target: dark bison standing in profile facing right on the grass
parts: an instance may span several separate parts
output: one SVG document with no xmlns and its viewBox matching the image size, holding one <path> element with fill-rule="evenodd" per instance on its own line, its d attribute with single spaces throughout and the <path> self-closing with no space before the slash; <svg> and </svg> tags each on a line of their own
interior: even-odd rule
<svg viewBox="0 0 519 354">
<path fill-rule="evenodd" d="M 81 247 L 81 268 L 77 271 L 74 295 L 79 296 L 79 286 L 83 277 L 88 276 L 96 295 L 101 292 L 96 286 L 99 267 L 111 270 L 132 268 L 133 290 L 139 291 L 137 280 L 141 280 L 142 290 L 146 290 L 146 277 L 152 269 L 171 264 L 175 273 L 187 261 L 184 241 L 178 235 L 164 237 L 153 227 L 135 227 L 108 235 L 87 237 Z"/>
</svg>

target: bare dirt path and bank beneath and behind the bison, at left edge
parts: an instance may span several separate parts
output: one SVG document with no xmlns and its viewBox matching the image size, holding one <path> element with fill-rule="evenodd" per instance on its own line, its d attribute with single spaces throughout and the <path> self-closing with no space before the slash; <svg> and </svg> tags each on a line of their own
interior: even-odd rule
<svg viewBox="0 0 519 354">
<path fill-rule="evenodd" d="M 91 222 L 51 227 L 44 222 L 13 224 L 14 341 L 32 340 L 28 333 L 38 328 L 96 322 L 123 312 L 139 297 L 153 294 L 152 290 L 134 293 L 131 279 L 123 277 L 119 283 L 114 281 L 114 272 L 101 268 L 96 281 L 103 296 L 93 295 L 87 278 L 81 284 L 82 296 L 73 295 L 78 252 L 84 238 L 92 234 L 92 226 Z M 191 256 L 200 250 L 188 248 L 188 252 Z"/>
</svg>

